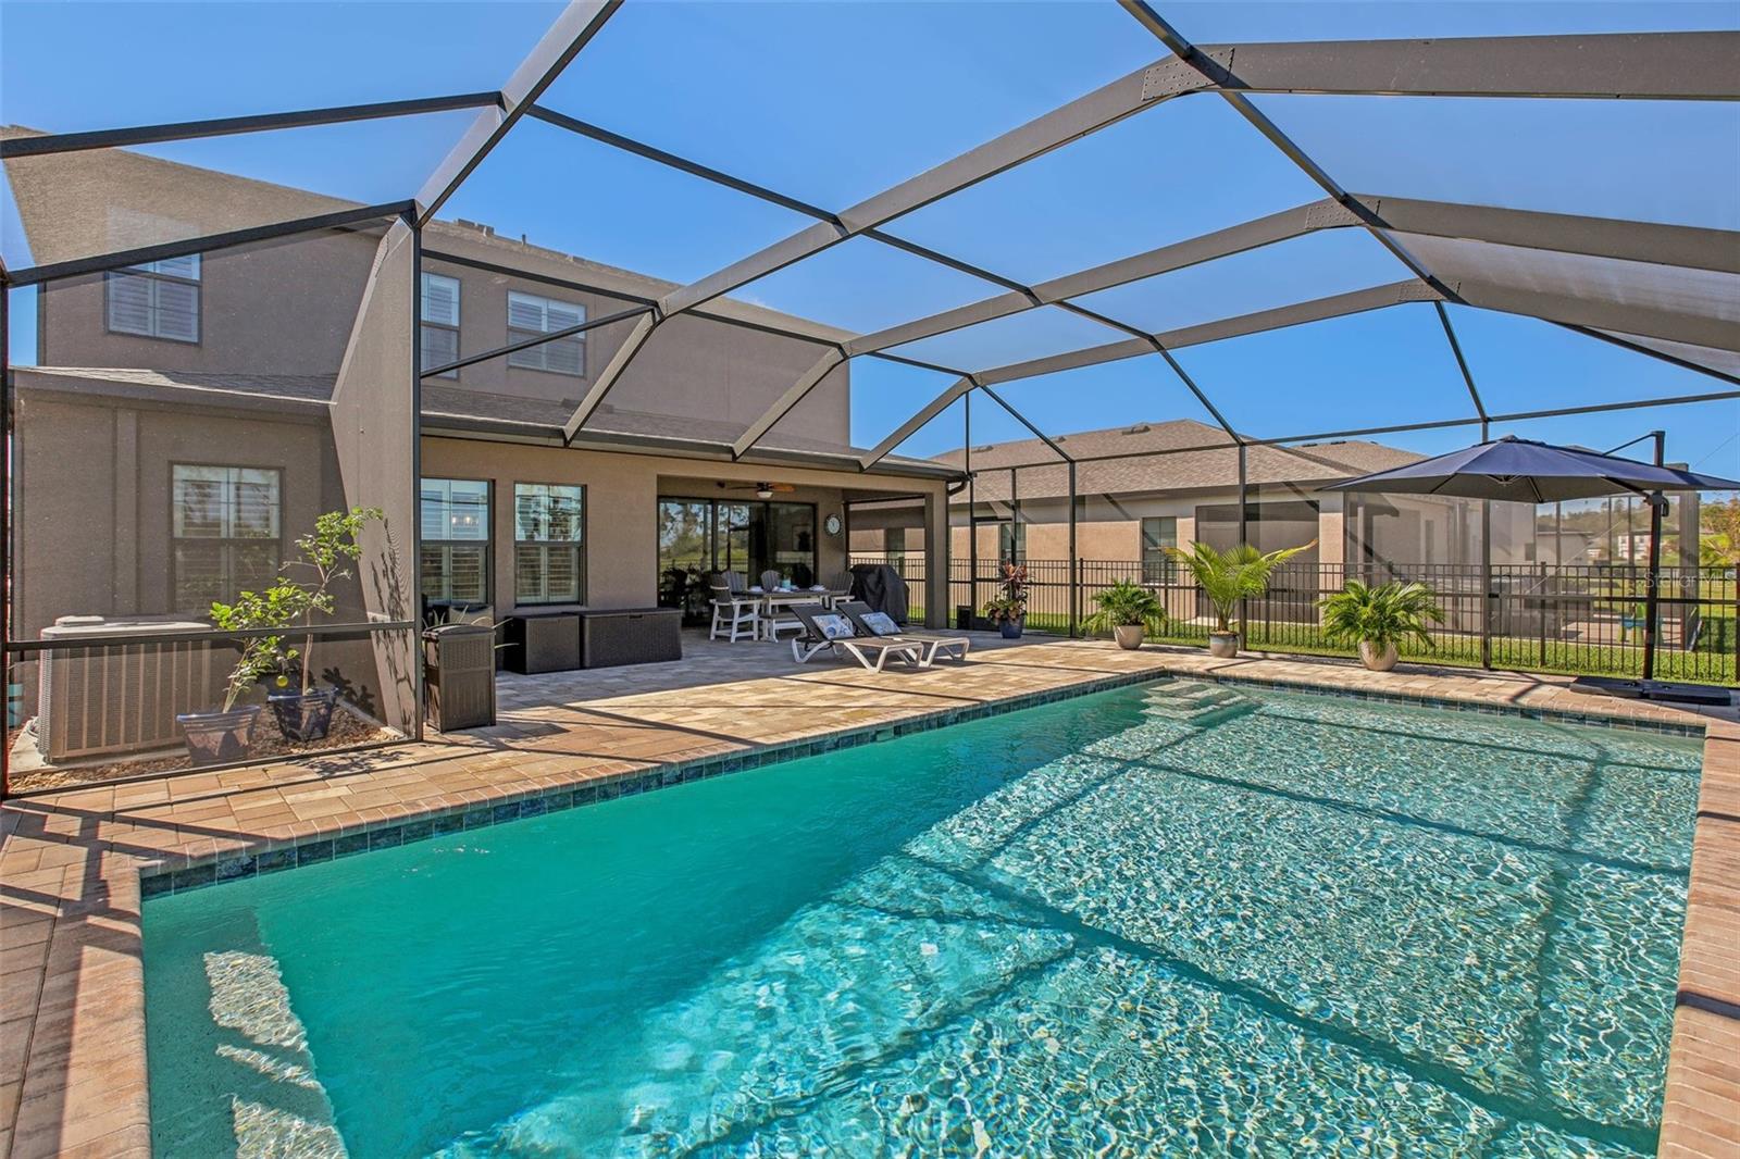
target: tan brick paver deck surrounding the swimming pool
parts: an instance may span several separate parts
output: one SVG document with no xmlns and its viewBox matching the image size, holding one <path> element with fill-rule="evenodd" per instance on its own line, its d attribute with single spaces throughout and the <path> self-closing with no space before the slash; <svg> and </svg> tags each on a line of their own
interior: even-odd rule
<svg viewBox="0 0 1740 1159">
<path fill-rule="evenodd" d="M 141 877 L 190 884 L 284 851 L 365 847 L 425 818 L 519 814 L 546 794 L 637 792 L 1145 673 L 1603 715 L 1705 729 L 1662 1156 L 1740 1154 L 1740 719 L 1590 698 L 1524 673 L 974 637 L 966 665 L 797 667 L 785 646 L 503 673 L 499 724 L 435 741 L 17 797 L 0 807 L 0 1157 L 150 1156 Z M 832 740 L 830 740 L 832 738 Z M 531 811 L 531 807 L 527 807 Z M 468 821 L 461 821 L 468 823 Z M 332 856 L 327 849 L 324 856 Z M 179 872 L 184 877 L 176 879 Z"/>
</svg>

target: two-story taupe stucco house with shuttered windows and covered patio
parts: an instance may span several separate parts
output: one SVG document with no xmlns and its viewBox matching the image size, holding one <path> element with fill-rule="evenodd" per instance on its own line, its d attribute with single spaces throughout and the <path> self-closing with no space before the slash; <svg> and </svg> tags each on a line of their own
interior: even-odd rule
<svg viewBox="0 0 1740 1159">
<path fill-rule="evenodd" d="M 37 266 L 353 209 L 122 150 L 5 169 Z M 957 472 L 861 472 L 846 365 L 733 461 L 731 442 L 847 338 L 733 299 L 661 325 L 571 444 L 562 425 L 628 318 L 425 378 L 414 439 L 411 341 L 432 369 L 673 285 L 437 221 L 412 291 L 383 237 L 351 224 L 38 289 L 37 365 L 12 371 L 19 637 L 63 616 L 200 620 L 268 583 L 320 512 L 353 505 L 388 508 L 395 548 L 421 522 L 418 559 L 376 571 L 414 569 L 426 600 L 498 616 L 677 599 L 672 567 L 832 581 L 847 566 L 833 517 L 877 496 L 927 496 L 947 550 Z M 388 261 L 404 277 L 364 298 Z M 341 618 L 407 618 L 379 592 L 409 585 L 364 571 Z"/>
</svg>

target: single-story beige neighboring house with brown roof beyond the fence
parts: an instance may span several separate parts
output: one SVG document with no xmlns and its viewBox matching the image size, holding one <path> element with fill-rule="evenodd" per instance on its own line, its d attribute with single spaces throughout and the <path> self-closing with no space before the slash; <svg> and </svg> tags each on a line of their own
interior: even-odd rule
<svg viewBox="0 0 1740 1159">
<path fill-rule="evenodd" d="M 1148 580 L 1171 574 L 1168 548 L 1239 541 L 1239 454 L 1225 432 L 1192 419 L 1136 423 L 1058 435 L 1075 466 L 1075 555 L 1140 564 Z M 1155 454 L 1159 452 L 1159 454 Z M 1129 458 L 1107 458 L 1129 456 Z M 1376 576 L 1434 574 L 1481 564 L 1481 505 L 1467 499 L 1340 494 L 1331 482 L 1402 466 L 1420 454 L 1369 440 L 1246 449 L 1244 538 L 1263 552 L 1307 546 L 1302 564 L 1355 564 Z M 950 451 L 938 463 L 971 470 L 950 499 L 950 553 L 999 560 L 1070 557 L 1068 468 L 1039 439 Z M 1037 466 L 1028 466 L 1037 465 Z M 1020 468 L 1020 470 L 1011 470 Z M 1587 538 L 1554 534 L 1552 508 L 1495 503 L 1493 562 L 1582 564 Z M 853 520 L 853 552 L 915 552 L 912 505 L 875 505 Z M 912 541 L 910 541 L 912 539 Z M 1568 552 L 1564 559 L 1559 552 Z"/>
</svg>

